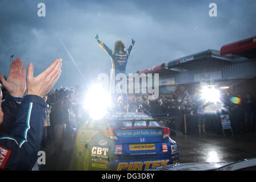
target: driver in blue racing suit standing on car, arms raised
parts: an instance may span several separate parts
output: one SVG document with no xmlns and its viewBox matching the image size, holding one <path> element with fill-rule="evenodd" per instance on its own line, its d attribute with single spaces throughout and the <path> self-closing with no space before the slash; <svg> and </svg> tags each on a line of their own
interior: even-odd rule
<svg viewBox="0 0 256 182">
<path fill-rule="evenodd" d="M 135 41 L 131 39 L 131 45 L 130 47 L 125 51 L 125 44 L 121 40 L 117 40 L 115 42 L 115 48 L 114 50 L 110 49 L 109 47 L 106 46 L 105 43 L 103 43 L 101 40 L 99 40 L 99 36 L 97 35 L 95 37 L 99 45 L 107 52 L 107 54 L 111 57 L 112 61 L 112 71 L 111 71 L 111 76 L 110 76 L 110 85 L 111 82 L 115 82 L 115 76 L 118 73 L 124 73 L 126 75 L 126 65 L 127 65 L 127 60 L 128 57 L 130 56 L 131 52 L 133 51 Z M 115 82 L 114 85 L 118 84 L 118 82 Z M 123 98 L 123 109 L 127 110 L 129 105 L 128 105 L 128 97 L 127 93 L 122 93 L 122 98 Z"/>
</svg>

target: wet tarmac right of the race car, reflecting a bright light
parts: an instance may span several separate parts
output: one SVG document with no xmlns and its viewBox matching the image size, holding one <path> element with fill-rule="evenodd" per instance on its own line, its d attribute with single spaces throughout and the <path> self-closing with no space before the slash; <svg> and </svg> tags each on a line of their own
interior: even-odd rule
<svg viewBox="0 0 256 182">
<path fill-rule="evenodd" d="M 237 162 L 256 158 L 256 134 L 206 133 L 171 136 L 179 148 L 180 163 Z"/>
</svg>

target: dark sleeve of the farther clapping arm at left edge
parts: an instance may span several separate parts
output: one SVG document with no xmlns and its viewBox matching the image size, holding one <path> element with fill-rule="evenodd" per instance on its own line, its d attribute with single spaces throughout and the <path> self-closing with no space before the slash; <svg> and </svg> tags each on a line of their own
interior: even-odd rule
<svg viewBox="0 0 256 182">
<path fill-rule="evenodd" d="M 10 98 L 9 94 L 7 94 L 5 100 L 2 101 L 2 111 L 4 115 L 3 122 L 0 125 L 0 133 L 9 134 L 17 118 L 20 106 L 21 104 L 18 104 L 16 101 Z"/>
</svg>

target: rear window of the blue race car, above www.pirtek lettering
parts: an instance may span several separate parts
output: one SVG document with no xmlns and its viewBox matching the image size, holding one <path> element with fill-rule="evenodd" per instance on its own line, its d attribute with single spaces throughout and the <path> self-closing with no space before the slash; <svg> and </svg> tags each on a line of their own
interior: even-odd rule
<svg viewBox="0 0 256 182">
<path fill-rule="evenodd" d="M 160 125 L 156 121 L 110 121 L 111 128 L 159 127 L 159 126 Z"/>
</svg>

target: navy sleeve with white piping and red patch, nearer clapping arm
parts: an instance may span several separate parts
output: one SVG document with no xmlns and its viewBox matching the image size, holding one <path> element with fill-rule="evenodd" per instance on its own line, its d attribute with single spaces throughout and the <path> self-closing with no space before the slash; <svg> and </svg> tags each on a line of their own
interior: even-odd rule
<svg viewBox="0 0 256 182">
<path fill-rule="evenodd" d="M 24 97 L 9 135 L 0 133 L 0 170 L 31 170 L 37 162 L 46 102 L 39 96 Z"/>
</svg>

